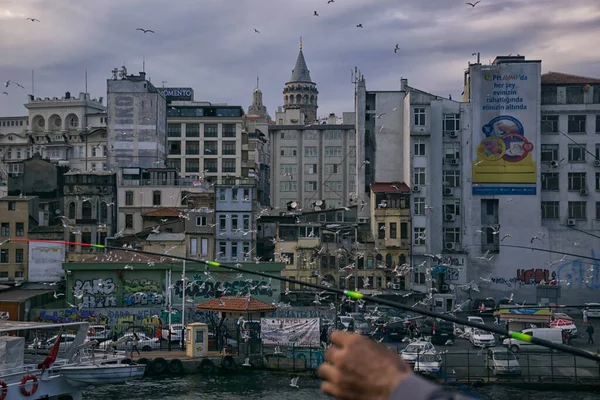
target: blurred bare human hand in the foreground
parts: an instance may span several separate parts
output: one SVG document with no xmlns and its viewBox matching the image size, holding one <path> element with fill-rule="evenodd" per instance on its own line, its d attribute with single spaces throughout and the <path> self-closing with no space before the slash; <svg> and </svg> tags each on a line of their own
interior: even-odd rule
<svg viewBox="0 0 600 400">
<path fill-rule="evenodd" d="M 335 331 L 318 373 L 321 391 L 340 400 L 388 400 L 412 370 L 397 354 L 361 335 Z"/>
</svg>

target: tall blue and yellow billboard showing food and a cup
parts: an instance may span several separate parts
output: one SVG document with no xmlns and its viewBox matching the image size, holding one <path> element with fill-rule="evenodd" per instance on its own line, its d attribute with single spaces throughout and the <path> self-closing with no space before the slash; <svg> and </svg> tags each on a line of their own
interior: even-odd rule
<svg viewBox="0 0 600 400">
<path fill-rule="evenodd" d="M 473 194 L 535 195 L 540 64 L 500 64 L 472 73 Z"/>
</svg>

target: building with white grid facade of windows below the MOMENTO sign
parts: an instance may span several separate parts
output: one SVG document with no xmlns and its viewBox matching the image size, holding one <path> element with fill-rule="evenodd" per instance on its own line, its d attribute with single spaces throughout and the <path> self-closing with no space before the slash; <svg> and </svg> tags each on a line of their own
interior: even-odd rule
<svg viewBox="0 0 600 400">
<path fill-rule="evenodd" d="M 248 177 L 255 167 L 242 148 L 242 107 L 173 101 L 167 117 L 167 165 L 181 176 L 209 187 L 226 177 Z"/>
</svg>

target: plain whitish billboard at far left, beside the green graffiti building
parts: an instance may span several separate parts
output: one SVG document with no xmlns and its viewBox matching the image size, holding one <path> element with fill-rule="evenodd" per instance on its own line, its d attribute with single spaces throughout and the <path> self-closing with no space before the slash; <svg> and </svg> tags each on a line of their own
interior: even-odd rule
<svg viewBox="0 0 600 400">
<path fill-rule="evenodd" d="M 29 243 L 29 282 L 57 282 L 63 276 L 65 245 Z"/>
</svg>

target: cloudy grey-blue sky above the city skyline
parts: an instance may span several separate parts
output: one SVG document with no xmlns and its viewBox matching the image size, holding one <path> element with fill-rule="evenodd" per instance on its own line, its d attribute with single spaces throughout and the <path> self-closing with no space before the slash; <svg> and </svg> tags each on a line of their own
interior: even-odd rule
<svg viewBox="0 0 600 400">
<path fill-rule="evenodd" d="M 88 91 L 106 98 L 111 69 L 125 63 L 137 73 L 145 55 L 155 85 L 193 87 L 196 100 L 244 109 L 259 75 L 274 117 L 300 36 L 322 116 L 352 111 L 355 66 L 368 90 L 397 90 L 405 77 L 455 98 L 473 52 L 484 62 L 519 53 L 542 59 L 544 72 L 600 77 L 598 0 L 482 0 L 474 8 L 461 0 L 0 0 L 0 81 L 26 88 L 0 94 L 0 116 L 26 114 L 32 69 L 36 97 L 84 91 L 87 69 Z"/>
</svg>

